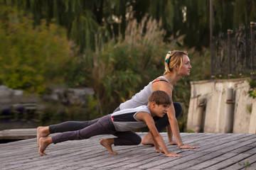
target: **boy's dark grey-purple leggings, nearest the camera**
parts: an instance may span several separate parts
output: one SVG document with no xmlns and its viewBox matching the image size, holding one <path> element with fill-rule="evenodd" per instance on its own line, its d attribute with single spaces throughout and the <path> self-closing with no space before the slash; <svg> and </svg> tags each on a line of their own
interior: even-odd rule
<svg viewBox="0 0 256 170">
<path fill-rule="evenodd" d="M 100 118 L 97 123 L 82 130 L 63 132 L 52 137 L 53 143 L 65 142 L 68 140 L 85 140 L 96 135 L 114 135 L 114 145 L 139 145 L 142 138 L 135 132 L 117 132 L 114 128 L 110 115 Z"/>
</svg>

